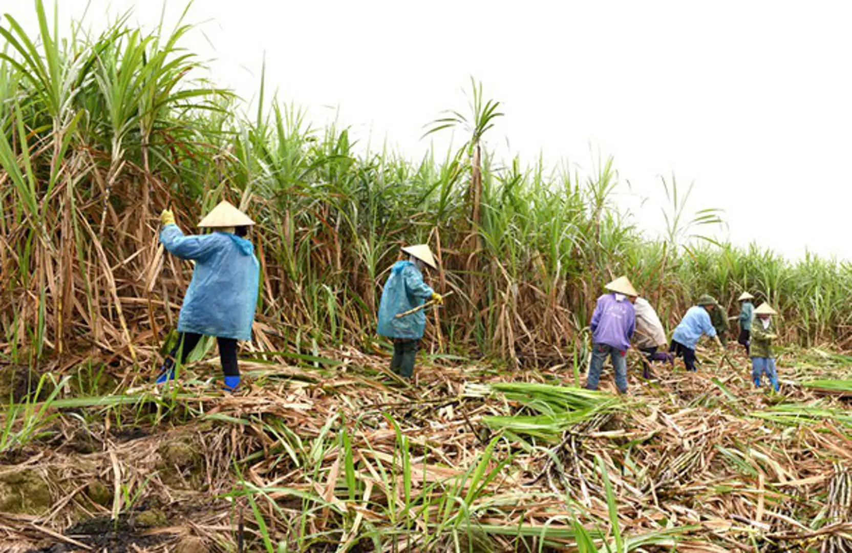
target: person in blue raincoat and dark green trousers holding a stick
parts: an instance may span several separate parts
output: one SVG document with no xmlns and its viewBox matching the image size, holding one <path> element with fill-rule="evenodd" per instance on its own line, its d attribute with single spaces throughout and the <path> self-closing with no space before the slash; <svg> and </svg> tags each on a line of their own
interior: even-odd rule
<svg viewBox="0 0 852 553">
<path fill-rule="evenodd" d="M 414 376 L 414 360 L 423 331 L 426 330 L 426 314 L 423 309 L 397 317 L 413 308 L 423 306 L 426 300 L 441 305 L 444 298 L 423 282 L 426 267 L 435 266 L 435 256 L 425 244 L 402 248 L 408 259 L 395 262 L 390 276 L 384 284 L 382 301 L 378 307 L 378 333 L 394 342 L 394 357 L 390 370 L 406 378 Z"/>
</svg>

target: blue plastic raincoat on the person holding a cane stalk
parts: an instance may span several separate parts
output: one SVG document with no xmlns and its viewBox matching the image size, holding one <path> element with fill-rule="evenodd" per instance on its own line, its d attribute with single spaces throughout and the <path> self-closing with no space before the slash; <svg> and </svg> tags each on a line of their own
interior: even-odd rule
<svg viewBox="0 0 852 553">
<path fill-rule="evenodd" d="M 423 310 L 396 318 L 403 313 L 423 305 L 435 293 L 423 282 L 423 274 L 410 261 L 395 262 L 382 291 L 382 302 L 378 307 L 378 333 L 384 337 L 419 340 L 426 330 L 426 314 Z"/>
</svg>

